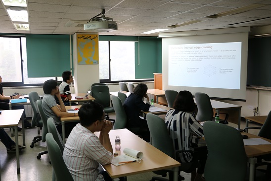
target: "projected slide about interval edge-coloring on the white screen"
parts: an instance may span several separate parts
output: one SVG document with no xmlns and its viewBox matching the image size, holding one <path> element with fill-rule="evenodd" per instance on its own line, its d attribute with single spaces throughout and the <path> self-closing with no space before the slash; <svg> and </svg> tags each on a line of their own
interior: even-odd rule
<svg viewBox="0 0 271 181">
<path fill-rule="evenodd" d="M 169 45 L 168 85 L 240 89 L 241 42 Z"/>
</svg>

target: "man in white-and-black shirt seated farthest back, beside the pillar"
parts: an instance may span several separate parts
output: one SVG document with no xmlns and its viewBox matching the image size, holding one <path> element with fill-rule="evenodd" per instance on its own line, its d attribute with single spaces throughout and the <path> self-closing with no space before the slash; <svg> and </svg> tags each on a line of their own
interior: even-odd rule
<svg viewBox="0 0 271 181">
<path fill-rule="evenodd" d="M 70 84 L 73 83 L 73 76 L 71 71 L 64 71 L 62 73 L 63 82 L 59 85 L 58 89 L 61 95 L 61 99 L 64 102 L 65 106 L 70 106 L 69 100 L 72 99 L 71 91 L 70 91 Z M 58 100 L 56 98 L 56 103 L 58 104 Z M 72 105 L 77 105 L 72 103 Z"/>
</svg>

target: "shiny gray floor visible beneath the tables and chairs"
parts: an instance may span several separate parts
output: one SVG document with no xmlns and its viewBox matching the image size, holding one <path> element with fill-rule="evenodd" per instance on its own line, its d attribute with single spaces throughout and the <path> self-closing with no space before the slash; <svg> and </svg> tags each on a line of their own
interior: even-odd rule
<svg viewBox="0 0 271 181">
<path fill-rule="evenodd" d="M 110 115 L 114 119 L 115 115 Z M 250 126 L 257 124 L 250 123 Z M 241 128 L 245 127 L 245 122 L 242 121 Z M 10 135 L 9 129 L 5 131 Z M 258 134 L 258 130 L 250 131 L 252 134 Z M 48 154 L 42 155 L 40 160 L 37 155 L 41 151 L 46 150 L 46 143 L 38 142 L 34 148 L 30 148 L 32 139 L 38 135 L 37 128 L 25 129 L 26 134 L 26 149 L 20 151 L 20 167 L 21 174 L 17 175 L 16 171 L 16 154 L 7 153 L 6 148 L 0 143 L 0 166 L 2 181 L 51 181 L 52 166 L 49 164 Z M 14 137 L 12 138 L 13 140 Z M 22 144 L 22 136 L 19 136 L 19 144 Z M 181 173 L 185 181 L 190 181 L 190 174 Z M 153 173 L 144 173 L 134 176 L 129 176 L 128 181 L 149 181 L 153 176 L 158 176 Z"/>
</svg>

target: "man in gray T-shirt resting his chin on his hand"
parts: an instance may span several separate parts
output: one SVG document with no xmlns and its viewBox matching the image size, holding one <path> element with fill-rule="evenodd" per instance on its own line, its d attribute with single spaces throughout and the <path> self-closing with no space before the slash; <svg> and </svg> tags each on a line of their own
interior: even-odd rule
<svg viewBox="0 0 271 181">
<path fill-rule="evenodd" d="M 53 118 L 54 123 L 56 124 L 57 130 L 61 134 L 62 126 L 61 126 L 60 118 L 78 116 L 78 113 L 66 112 L 66 108 L 61 99 L 56 80 L 52 80 L 52 79 L 46 80 L 44 83 L 43 89 L 45 93 L 43 97 L 43 102 L 42 102 L 44 113 L 47 119 Z M 59 101 L 59 105 L 56 104 L 56 101 L 54 98 L 55 96 L 57 97 Z M 65 123 L 65 133 L 67 137 L 75 125 L 76 125 L 76 122 Z"/>
</svg>

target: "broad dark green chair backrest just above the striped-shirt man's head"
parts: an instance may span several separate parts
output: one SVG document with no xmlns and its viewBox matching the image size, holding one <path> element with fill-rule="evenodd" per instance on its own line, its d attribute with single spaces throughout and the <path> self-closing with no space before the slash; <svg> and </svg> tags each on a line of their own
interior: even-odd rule
<svg viewBox="0 0 271 181">
<path fill-rule="evenodd" d="M 95 98 L 95 102 L 101 104 L 104 108 L 110 106 L 110 93 L 109 88 L 106 85 L 94 85 L 91 88 L 92 97 Z"/>
</svg>

